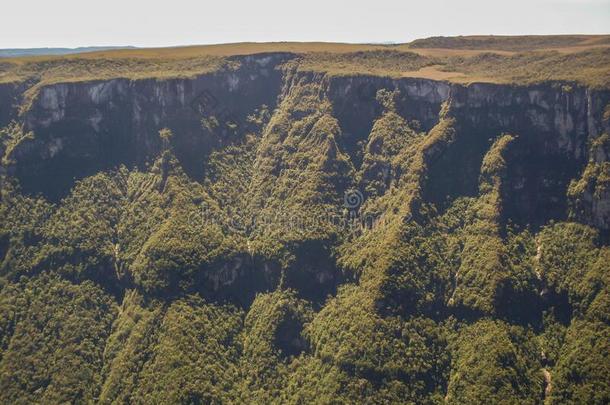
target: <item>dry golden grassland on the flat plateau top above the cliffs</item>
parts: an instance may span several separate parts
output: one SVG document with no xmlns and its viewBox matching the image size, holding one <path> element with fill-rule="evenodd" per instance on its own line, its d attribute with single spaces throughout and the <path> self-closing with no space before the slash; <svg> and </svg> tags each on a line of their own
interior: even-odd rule
<svg viewBox="0 0 610 405">
<path fill-rule="evenodd" d="M 0 59 L 0 83 L 111 78 L 192 77 L 237 62 L 228 57 L 289 52 L 300 70 L 333 75 L 370 74 L 451 82 L 574 81 L 610 87 L 610 35 L 471 36 L 428 38 L 410 44 L 325 42 L 235 43 L 99 51 L 67 56 Z"/>
</svg>

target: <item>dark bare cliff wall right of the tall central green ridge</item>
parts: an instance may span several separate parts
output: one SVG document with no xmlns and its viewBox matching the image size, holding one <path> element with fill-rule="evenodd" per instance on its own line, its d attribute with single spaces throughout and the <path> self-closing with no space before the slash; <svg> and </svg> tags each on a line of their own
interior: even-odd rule
<svg viewBox="0 0 610 405">
<path fill-rule="evenodd" d="M 608 131 L 602 116 L 610 102 L 608 91 L 561 84 L 461 86 L 424 79 L 333 79 L 328 92 L 335 115 L 356 142 L 366 139 L 380 114 L 375 102 L 380 88 L 398 89 L 397 111 L 425 131 L 438 122 L 443 103 L 455 118 L 456 139 L 430 164 L 424 190 L 439 206 L 460 195 L 475 195 L 478 171 L 491 142 L 502 133 L 514 134 L 503 211 L 505 219 L 521 224 L 541 225 L 566 217 L 568 185 L 583 172 L 591 143 Z M 609 229 L 599 220 L 608 215 L 604 197 L 591 199 L 594 207 L 584 222 Z"/>
</svg>

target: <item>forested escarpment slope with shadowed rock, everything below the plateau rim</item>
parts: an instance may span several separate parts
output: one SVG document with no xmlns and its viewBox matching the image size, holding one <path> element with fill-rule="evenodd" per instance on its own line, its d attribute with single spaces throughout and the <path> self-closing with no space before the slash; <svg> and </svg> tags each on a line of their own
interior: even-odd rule
<svg viewBox="0 0 610 405">
<path fill-rule="evenodd" d="M 104 121 L 79 111 L 106 107 L 20 90 L 0 130 L 0 403 L 610 402 L 610 93 L 563 125 L 577 83 L 424 102 L 405 86 L 435 84 L 339 87 L 308 65 L 328 57 L 282 60 L 269 104 L 161 110 L 140 160 L 86 138 Z"/>
</svg>

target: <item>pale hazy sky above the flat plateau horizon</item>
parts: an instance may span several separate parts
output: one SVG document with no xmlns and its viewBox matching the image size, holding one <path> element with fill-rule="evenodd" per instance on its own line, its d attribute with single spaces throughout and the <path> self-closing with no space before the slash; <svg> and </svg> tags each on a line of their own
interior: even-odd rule
<svg viewBox="0 0 610 405">
<path fill-rule="evenodd" d="M 610 33 L 610 0 L 3 0 L 0 9 L 0 48 Z"/>
</svg>

